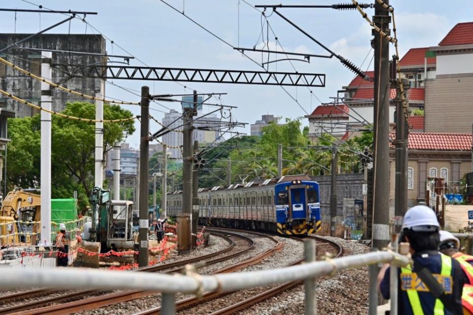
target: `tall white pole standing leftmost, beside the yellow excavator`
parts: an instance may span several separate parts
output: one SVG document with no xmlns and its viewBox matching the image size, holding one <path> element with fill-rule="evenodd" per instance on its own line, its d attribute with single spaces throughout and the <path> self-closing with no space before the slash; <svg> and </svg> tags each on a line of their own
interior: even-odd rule
<svg viewBox="0 0 473 315">
<path fill-rule="evenodd" d="M 52 53 L 41 52 L 41 74 L 51 80 Z M 41 107 L 51 110 L 51 87 L 41 82 Z M 5 191 L 6 193 L 6 191 Z M 41 239 L 51 245 L 51 114 L 41 110 Z"/>
</svg>

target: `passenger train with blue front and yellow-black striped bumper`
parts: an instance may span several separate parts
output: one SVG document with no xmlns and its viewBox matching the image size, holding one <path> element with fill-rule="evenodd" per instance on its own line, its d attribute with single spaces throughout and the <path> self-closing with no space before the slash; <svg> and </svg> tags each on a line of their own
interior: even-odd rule
<svg viewBox="0 0 473 315">
<path fill-rule="evenodd" d="M 306 235 L 321 229 L 319 184 L 306 175 L 201 188 L 199 223 Z M 182 213 L 182 191 L 168 193 L 167 214 Z"/>
</svg>

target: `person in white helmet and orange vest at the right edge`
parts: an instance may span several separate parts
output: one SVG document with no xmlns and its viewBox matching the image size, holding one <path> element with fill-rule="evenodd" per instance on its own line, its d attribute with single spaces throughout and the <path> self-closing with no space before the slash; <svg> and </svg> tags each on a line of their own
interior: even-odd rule
<svg viewBox="0 0 473 315">
<path fill-rule="evenodd" d="M 440 231 L 438 250 L 447 256 L 455 258 L 468 277 L 470 284 L 463 286 L 462 305 L 464 315 L 473 314 L 473 256 L 460 251 L 460 240 L 448 231 Z"/>
</svg>

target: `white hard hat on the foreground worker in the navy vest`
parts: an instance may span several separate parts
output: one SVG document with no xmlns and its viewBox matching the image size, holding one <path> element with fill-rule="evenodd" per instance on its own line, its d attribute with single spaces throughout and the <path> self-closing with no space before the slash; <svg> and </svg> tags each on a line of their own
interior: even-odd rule
<svg viewBox="0 0 473 315">
<path fill-rule="evenodd" d="M 427 206 L 415 206 L 407 210 L 402 221 L 402 229 L 415 232 L 435 232 L 440 228 L 434 210 Z"/>
</svg>

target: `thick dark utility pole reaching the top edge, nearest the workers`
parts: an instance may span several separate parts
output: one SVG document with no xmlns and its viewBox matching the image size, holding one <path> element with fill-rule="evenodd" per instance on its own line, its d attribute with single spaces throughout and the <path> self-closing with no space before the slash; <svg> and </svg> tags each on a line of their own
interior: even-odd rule
<svg viewBox="0 0 473 315">
<path fill-rule="evenodd" d="M 384 1 L 389 5 L 389 0 Z M 390 34 L 388 9 L 374 4 L 373 22 Z M 372 246 L 382 248 L 389 242 L 389 41 L 374 35 L 374 183 Z"/>
</svg>

